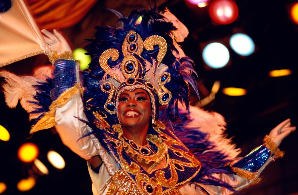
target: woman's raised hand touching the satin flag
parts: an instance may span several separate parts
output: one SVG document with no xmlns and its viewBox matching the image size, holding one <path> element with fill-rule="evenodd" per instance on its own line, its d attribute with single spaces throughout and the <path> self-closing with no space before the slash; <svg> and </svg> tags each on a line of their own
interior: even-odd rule
<svg viewBox="0 0 298 195">
<path fill-rule="evenodd" d="M 53 30 L 54 34 L 46 29 L 42 29 L 41 32 L 44 34 L 43 38 L 47 42 L 50 51 L 57 51 L 58 55 L 62 54 L 64 51 L 70 51 L 70 53 L 72 53 L 67 41 L 56 29 Z"/>
</svg>

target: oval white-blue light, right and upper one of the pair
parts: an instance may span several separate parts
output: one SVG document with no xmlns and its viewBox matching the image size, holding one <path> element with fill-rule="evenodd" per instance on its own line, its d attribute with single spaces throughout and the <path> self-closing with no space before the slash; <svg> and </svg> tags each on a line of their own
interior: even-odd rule
<svg viewBox="0 0 298 195">
<path fill-rule="evenodd" d="M 254 41 L 246 34 L 236 33 L 230 38 L 230 46 L 239 55 L 248 56 L 255 51 Z"/>
</svg>

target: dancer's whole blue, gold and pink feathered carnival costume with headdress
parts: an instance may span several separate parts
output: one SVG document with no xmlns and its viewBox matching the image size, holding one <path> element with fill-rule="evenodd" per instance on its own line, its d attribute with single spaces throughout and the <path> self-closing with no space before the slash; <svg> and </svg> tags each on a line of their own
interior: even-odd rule
<svg viewBox="0 0 298 195">
<path fill-rule="evenodd" d="M 87 40 L 88 71 L 79 72 L 68 52 L 48 54 L 53 75 L 34 81 L 38 92 L 28 104 L 38 109 L 30 110 L 37 118 L 31 133 L 56 126 L 63 143 L 84 159 L 99 154 L 99 170 L 88 163 L 94 194 L 231 194 L 256 183 L 283 153 L 266 137 L 235 160 L 240 150 L 223 135 L 223 118 L 189 105 L 189 85 L 198 95 L 197 75 L 177 44 L 186 27 L 168 10 L 113 12 L 120 18 L 116 27 L 96 27 Z M 13 82 L 11 73 L 1 75 Z M 145 146 L 123 135 L 117 116 L 121 93 L 137 88 L 151 100 Z M 9 94 L 11 85 L 4 90 Z M 142 161 L 153 165 L 146 170 Z"/>
</svg>

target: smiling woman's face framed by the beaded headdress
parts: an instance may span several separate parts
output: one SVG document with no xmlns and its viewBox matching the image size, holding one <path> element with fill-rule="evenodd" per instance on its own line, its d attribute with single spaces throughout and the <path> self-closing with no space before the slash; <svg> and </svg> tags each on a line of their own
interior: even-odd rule
<svg viewBox="0 0 298 195">
<path fill-rule="evenodd" d="M 145 90 L 122 92 L 119 97 L 118 117 L 123 127 L 148 128 L 151 115 L 151 100 Z"/>
</svg>

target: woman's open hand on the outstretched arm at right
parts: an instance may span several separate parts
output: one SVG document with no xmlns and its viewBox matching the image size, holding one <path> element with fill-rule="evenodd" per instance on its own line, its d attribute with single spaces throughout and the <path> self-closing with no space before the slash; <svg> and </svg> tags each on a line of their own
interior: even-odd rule
<svg viewBox="0 0 298 195">
<path fill-rule="evenodd" d="M 275 142 L 276 147 L 278 147 L 282 140 L 295 130 L 296 126 L 291 126 L 291 119 L 289 118 L 271 130 L 269 136 Z"/>
</svg>

